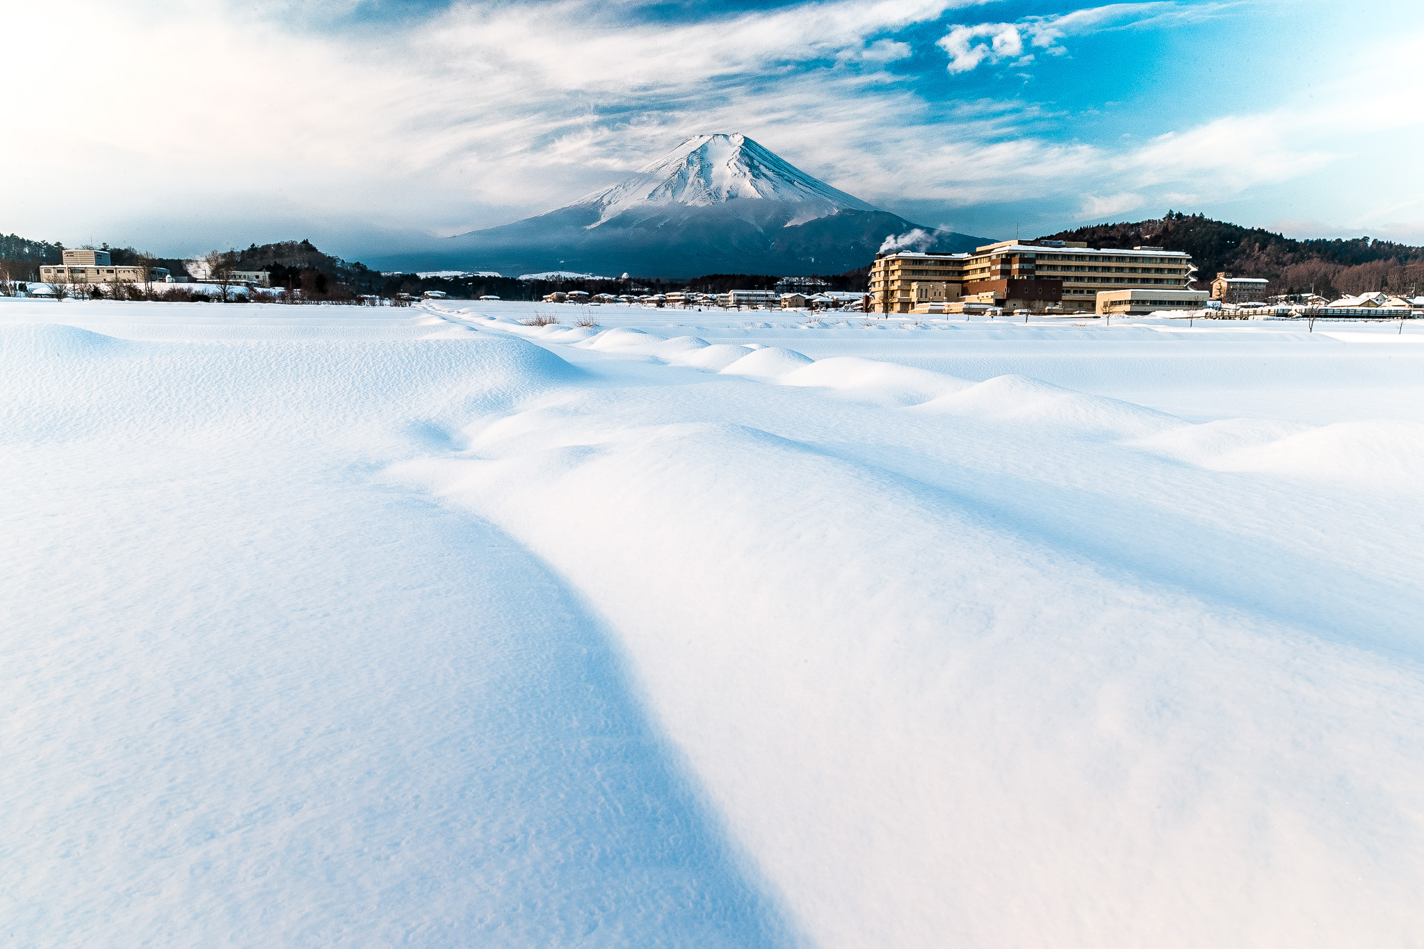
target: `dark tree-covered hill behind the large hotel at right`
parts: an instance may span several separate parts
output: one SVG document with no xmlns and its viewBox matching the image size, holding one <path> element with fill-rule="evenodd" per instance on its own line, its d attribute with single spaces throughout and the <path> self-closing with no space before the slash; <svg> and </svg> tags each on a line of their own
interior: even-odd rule
<svg viewBox="0 0 1424 949">
<path fill-rule="evenodd" d="M 1168 212 L 1156 221 L 1092 225 L 1044 235 L 1049 240 L 1085 240 L 1089 246 L 1156 245 L 1186 250 L 1198 266 L 1198 286 L 1219 270 L 1266 277 L 1276 293 L 1314 289 L 1324 296 L 1393 290 L 1424 293 L 1424 248 L 1370 238 L 1296 240 L 1262 228 Z"/>
</svg>

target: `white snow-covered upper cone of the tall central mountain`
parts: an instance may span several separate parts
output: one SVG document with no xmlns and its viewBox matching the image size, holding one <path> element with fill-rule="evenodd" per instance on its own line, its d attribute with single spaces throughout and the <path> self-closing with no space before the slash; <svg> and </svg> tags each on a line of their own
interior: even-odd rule
<svg viewBox="0 0 1424 949">
<path fill-rule="evenodd" d="M 588 225 L 597 228 L 629 211 L 750 201 L 796 205 L 786 223 L 803 223 L 839 211 L 877 211 L 745 135 L 695 135 L 627 181 L 578 203 L 598 208 L 598 221 Z"/>
</svg>

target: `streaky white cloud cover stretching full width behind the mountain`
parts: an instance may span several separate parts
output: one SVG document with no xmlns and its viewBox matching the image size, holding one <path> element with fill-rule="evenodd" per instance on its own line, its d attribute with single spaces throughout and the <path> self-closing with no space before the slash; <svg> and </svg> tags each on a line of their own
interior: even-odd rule
<svg viewBox="0 0 1424 949">
<path fill-rule="evenodd" d="M 1398 63 L 1371 65 L 1393 73 L 1317 83 L 1314 100 L 1098 145 L 1052 141 L 1065 120 L 1032 102 L 931 102 L 917 77 L 884 68 L 911 51 L 897 30 L 936 20 L 946 0 L 807 3 L 638 28 L 609 23 L 597 0 L 461 6 L 380 36 L 292 33 L 197 0 L 164 3 L 175 6 L 140 16 L 135 3 L 74 0 L 64 43 L 7 50 L 0 108 L 23 117 L 0 137 L 7 230 L 172 252 L 382 235 L 336 245 L 367 253 L 547 211 L 685 135 L 736 131 L 867 201 L 938 202 L 931 219 L 994 202 L 1091 216 L 1125 195 L 1141 208 L 1233 199 L 1378 151 L 1373 134 L 1337 129 L 1421 121 L 1403 65 L 1418 47 L 1403 41 Z M 1020 61 L 1089 28 L 1171 16 L 1185 14 L 1114 4 L 990 24 L 997 31 L 968 37 L 957 55 Z M 48 30 L 30 7 L 10 26 Z M 1364 87 L 1374 91 L 1361 98 Z M 95 98 L 115 108 L 77 121 L 44 105 Z M 1417 151 L 1397 154 L 1407 162 Z M 94 186 L 67 186 L 75 181 Z M 1371 203 L 1390 221 L 1418 218 Z"/>
</svg>

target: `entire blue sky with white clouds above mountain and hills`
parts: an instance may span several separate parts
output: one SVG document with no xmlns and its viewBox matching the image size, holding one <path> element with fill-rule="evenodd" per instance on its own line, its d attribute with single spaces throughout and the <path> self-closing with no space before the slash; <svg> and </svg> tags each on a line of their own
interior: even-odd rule
<svg viewBox="0 0 1424 949">
<path fill-rule="evenodd" d="M 988 238 L 1172 208 L 1424 243 L 1417 7 L 75 0 L 0 64 L 0 230 L 375 256 L 743 132 Z"/>
</svg>

